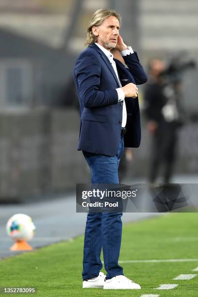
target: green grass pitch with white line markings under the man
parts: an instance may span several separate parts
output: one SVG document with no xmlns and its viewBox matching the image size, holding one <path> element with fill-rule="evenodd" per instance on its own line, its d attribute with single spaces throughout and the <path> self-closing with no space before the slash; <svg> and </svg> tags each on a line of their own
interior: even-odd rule
<svg viewBox="0 0 198 297">
<path fill-rule="evenodd" d="M 82 289 L 83 237 L 0 260 L 0 287 L 36 287 L 37 293 L 16 296 L 198 296 L 198 276 L 175 281 L 180 274 L 198 274 L 195 262 L 124 263 L 124 274 L 141 290 Z M 167 214 L 123 225 L 120 261 L 198 259 L 198 214 Z M 103 270 L 103 272 L 105 272 Z M 179 284 L 153 290 L 160 284 Z M 8 294 L 1 294 L 8 296 Z"/>
</svg>

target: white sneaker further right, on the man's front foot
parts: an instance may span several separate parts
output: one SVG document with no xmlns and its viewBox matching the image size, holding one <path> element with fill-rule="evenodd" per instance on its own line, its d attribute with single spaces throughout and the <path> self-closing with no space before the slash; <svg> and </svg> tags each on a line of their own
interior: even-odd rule
<svg viewBox="0 0 198 297">
<path fill-rule="evenodd" d="M 141 289 L 141 287 L 124 275 L 117 275 L 110 280 L 106 280 L 103 289 Z"/>
</svg>

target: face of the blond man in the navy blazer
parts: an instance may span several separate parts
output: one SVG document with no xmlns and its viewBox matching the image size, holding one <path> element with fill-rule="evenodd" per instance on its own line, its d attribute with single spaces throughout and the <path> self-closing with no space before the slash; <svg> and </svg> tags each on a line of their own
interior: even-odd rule
<svg viewBox="0 0 198 297">
<path fill-rule="evenodd" d="M 105 49 L 113 49 L 117 44 L 119 35 L 119 21 L 115 16 L 107 17 L 98 27 L 93 27 L 94 34 L 98 37 L 97 43 Z"/>
</svg>

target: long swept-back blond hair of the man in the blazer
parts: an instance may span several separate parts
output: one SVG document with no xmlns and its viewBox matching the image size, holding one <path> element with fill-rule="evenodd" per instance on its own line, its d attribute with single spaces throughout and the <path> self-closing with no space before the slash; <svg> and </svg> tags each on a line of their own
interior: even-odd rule
<svg viewBox="0 0 198 297">
<path fill-rule="evenodd" d="M 119 25 L 121 26 L 121 16 L 118 14 L 118 12 L 116 12 L 115 10 L 111 10 L 111 9 L 97 10 L 94 13 L 94 15 L 92 16 L 92 18 L 89 22 L 89 26 L 87 27 L 87 38 L 86 38 L 86 42 L 84 43 L 85 45 L 89 45 L 89 44 L 97 42 L 97 36 L 95 36 L 94 33 L 92 32 L 92 27 L 100 26 L 103 23 L 103 21 L 105 20 L 105 18 L 107 18 L 109 16 L 115 16 L 119 21 Z"/>
</svg>

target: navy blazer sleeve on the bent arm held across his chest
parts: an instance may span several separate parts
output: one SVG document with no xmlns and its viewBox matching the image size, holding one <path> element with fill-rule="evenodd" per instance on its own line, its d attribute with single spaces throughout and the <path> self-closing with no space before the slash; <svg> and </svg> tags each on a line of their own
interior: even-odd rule
<svg viewBox="0 0 198 297">
<path fill-rule="evenodd" d="M 99 91 L 100 74 L 101 65 L 98 57 L 91 51 L 83 51 L 74 68 L 74 80 L 80 100 L 86 108 L 107 106 L 118 102 L 116 89 Z"/>
</svg>

